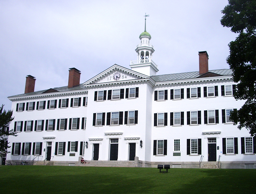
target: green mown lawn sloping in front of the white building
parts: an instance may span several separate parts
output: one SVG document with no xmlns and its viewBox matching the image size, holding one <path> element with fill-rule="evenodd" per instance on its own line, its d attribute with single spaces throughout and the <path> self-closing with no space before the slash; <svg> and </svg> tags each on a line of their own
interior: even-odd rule
<svg viewBox="0 0 256 194">
<path fill-rule="evenodd" d="M 254 193 L 255 169 L 0 166 L 1 193 Z"/>
</svg>

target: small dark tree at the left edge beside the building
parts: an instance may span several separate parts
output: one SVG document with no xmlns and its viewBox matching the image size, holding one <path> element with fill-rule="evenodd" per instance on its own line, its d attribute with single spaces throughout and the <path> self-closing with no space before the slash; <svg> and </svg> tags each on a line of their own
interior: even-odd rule
<svg viewBox="0 0 256 194">
<path fill-rule="evenodd" d="M 16 133 L 13 132 L 13 130 L 8 130 L 8 125 L 9 123 L 14 120 L 14 117 L 12 117 L 12 111 L 8 110 L 6 112 L 6 110 L 3 109 L 4 105 L 2 105 L 2 107 L 0 107 L 0 155 L 2 155 L 3 153 L 9 153 L 6 148 L 9 148 L 10 146 L 8 146 L 8 136 L 9 135 L 13 135 L 13 136 L 17 136 L 15 135 Z"/>
</svg>

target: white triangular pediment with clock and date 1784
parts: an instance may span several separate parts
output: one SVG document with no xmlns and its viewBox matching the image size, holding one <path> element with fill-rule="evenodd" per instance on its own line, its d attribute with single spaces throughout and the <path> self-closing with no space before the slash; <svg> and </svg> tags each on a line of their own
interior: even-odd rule
<svg viewBox="0 0 256 194">
<path fill-rule="evenodd" d="M 122 81 L 130 81 L 136 79 L 149 78 L 144 74 L 140 74 L 136 71 L 121 67 L 119 65 L 113 65 L 105 71 L 102 71 L 97 76 L 83 83 L 83 85 L 89 84 L 101 84 L 101 83 L 114 83 Z"/>
</svg>

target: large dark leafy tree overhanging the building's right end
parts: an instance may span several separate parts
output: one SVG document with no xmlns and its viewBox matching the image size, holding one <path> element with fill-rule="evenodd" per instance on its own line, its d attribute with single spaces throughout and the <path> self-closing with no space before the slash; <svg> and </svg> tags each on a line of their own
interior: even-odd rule
<svg viewBox="0 0 256 194">
<path fill-rule="evenodd" d="M 240 110 L 234 110 L 230 119 L 245 127 L 251 136 L 256 136 L 256 0 L 229 0 L 221 11 L 221 24 L 238 33 L 229 43 L 230 55 L 227 63 L 237 83 L 236 100 L 246 100 Z"/>
</svg>

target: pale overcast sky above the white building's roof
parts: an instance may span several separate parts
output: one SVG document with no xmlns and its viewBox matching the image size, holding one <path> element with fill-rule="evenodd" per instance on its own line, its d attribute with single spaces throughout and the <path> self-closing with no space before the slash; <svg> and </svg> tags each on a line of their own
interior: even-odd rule
<svg viewBox="0 0 256 194">
<path fill-rule="evenodd" d="M 227 0 L 0 0 L 0 104 L 24 93 L 68 85 L 68 70 L 84 83 L 114 64 L 137 60 L 139 35 L 154 46 L 158 75 L 199 71 L 199 51 L 209 70 L 229 68 L 228 43 L 236 34 L 220 24 Z"/>
</svg>

